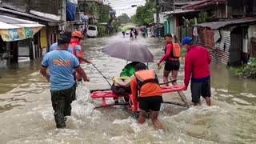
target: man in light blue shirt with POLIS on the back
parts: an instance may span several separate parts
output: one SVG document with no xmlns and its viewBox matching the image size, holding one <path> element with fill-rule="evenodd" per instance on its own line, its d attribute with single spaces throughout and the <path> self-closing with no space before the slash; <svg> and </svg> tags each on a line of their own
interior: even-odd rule
<svg viewBox="0 0 256 144">
<path fill-rule="evenodd" d="M 66 35 L 58 39 L 58 49 L 45 55 L 42 60 L 40 73 L 50 82 L 52 106 L 57 128 L 65 128 L 65 118 L 71 114 L 71 102 L 75 94 L 74 70 L 78 72 L 84 81 L 89 82 L 84 70 L 79 65 L 78 59 L 67 51 L 70 38 Z M 46 72 L 50 69 L 50 74 Z"/>
</svg>

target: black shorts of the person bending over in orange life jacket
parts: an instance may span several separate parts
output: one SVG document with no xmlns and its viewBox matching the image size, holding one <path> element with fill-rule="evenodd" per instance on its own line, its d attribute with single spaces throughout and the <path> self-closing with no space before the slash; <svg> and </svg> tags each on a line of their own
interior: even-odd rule
<svg viewBox="0 0 256 144">
<path fill-rule="evenodd" d="M 161 107 L 161 103 L 162 103 L 162 97 L 160 96 L 138 98 L 138 106 L 141 110 L 159 111 Z"/>
</svg>

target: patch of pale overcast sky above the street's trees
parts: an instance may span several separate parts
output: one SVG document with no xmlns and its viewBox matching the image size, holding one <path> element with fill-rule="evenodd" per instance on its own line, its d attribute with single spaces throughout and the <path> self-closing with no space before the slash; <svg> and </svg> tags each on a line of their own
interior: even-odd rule
<svg viewBox="0 0 256 144">
<path fill-rule="evenodd" d="M 136 14 L 137 7 L 131 7 L 133 5 L 144 6 L 145 0 L 105 0 L 105 4 L 108 4 L 112 7 L 112 9 L 116 10 L 116 16 L 122 14 L 127 14 L 132 16 Z"/>
</svg>

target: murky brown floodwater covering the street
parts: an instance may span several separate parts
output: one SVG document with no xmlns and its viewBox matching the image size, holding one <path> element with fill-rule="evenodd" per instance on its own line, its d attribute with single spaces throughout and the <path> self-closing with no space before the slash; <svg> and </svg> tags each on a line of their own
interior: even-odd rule
<svg viewBox="0 0 256 144">
<path fill-rule="evenodd" d="M 82 43 L 86 58 L 108 78 L 118 76 L 126 61 L 102 53 L 106 42 L 122 39 L 90 38 Z M 128 39 L 128 37 L 126 37 Z M 164 42 L 154 38 L 134 41 L 149 46 L 154 54 L 150 68 L 157 70 Z M 211 64 L 214 106 L 191 107 L 174 114 L 174 106 L 162 106 L 160 120 L 166 130 L 154 130 L 152 123 L 138 125 L 124 106 L 94 110 L 100 101 L 89 90 L 110 86 L 91 65 L 82 64 L 90 82 L 78 86 L 77 101 L 65 130 L 57 130 L 50 101 L 50 84 L 39 74 L 41 59 L 0 67 L 0 143 L 255 143 L 256 81 L 237 78 L 225 66 Z M 162 82 L 162 70 L 157 70 Z M 183 65 L 178 83 L 183 83 Z M 184 92 L 190 100 L 190 90 Z M 175 97 L 168 94 L 165 97 Z M 112 100 L 108 101 L 112 102 Z M 179 108 L 178 108 L 179 109 Z"/>
</svg>

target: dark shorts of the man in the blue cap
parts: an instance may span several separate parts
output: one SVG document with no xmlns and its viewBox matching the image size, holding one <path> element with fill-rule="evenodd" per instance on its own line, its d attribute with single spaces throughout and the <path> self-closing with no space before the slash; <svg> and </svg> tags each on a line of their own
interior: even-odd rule
<svg viewBox="0 0 256 144">
<path fill-rule="evenodd" d="M 191 82 L 192 102 L 199 103 L 200 97 L 210 97 L 210 80 L 206 82 Z"/>
</svg>

